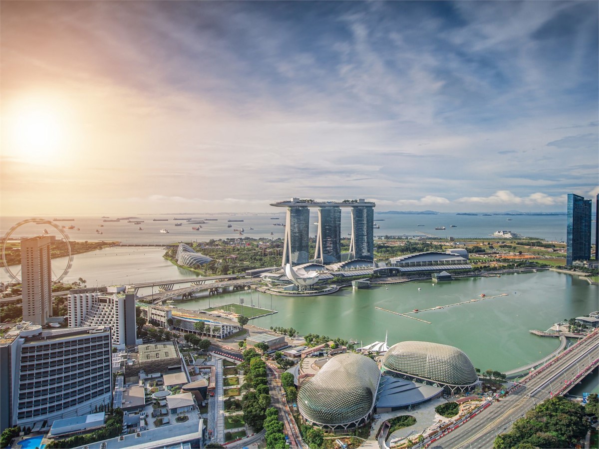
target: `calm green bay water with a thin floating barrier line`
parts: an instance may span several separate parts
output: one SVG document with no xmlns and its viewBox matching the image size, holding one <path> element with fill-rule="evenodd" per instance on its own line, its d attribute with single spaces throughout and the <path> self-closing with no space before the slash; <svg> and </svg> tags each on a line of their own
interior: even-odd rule
<svg viewBox="0 0 599 449">
<path fill-rule="evenodd" d="M 420 290 L 418 290 L 420 288 Z M 464 351 L 477 368 L 508 371 L 541 359 L 559 345 L 557 338 L 532 335 L 530 329 L 546 330 L 556 321 L 598 310 L 596 286 L 571 275 L 541 271 L 494 278 L 467 278 L 448 283 L 411 282 L 368 290 L 341 289 L 326 296 L 290 298 L 264 295 L 253 290 L 210 298 L 210 305 L 238 302 L 279 311 L 250 321 L 255 326 L 294 327 L 301 334 L 319 333 L 356 339 L 364 345 L 383 341 L 389 346 L 404 340 L 432 341 Z M 385 311 L 401 313 L 416 308 L 444 306 L 456 302 L 508 293 L 471 304 L 420 312 L 412 316 L 425 324 Z M 177 303 L 198 310 L 208 307 L 208 298 Z"/>
</svg>

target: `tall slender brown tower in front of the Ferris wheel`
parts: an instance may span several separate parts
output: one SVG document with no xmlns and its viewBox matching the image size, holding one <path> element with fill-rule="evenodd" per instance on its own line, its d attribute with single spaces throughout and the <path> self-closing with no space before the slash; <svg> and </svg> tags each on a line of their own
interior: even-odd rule
<svg viewBox="0 0 599 449">
<path fill-rule="evenodd" d="M 52 316 L 52 262 L 50 244 L 55 236 L 37 236 L 21 241 L 23 320 L 44 326 Z"/>
</svg>

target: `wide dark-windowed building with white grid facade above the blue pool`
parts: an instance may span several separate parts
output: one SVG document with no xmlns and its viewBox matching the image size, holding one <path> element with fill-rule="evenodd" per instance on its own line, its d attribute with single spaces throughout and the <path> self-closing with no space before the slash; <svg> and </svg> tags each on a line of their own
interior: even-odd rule
<svg viewBox="0 0 599 449">
<path fill-rule="evenodd" d="M 0 340 L 0 430 L 50 426 L 111 404 L 111 352 L 110 327 L 17 324 Z"/>
</svg>

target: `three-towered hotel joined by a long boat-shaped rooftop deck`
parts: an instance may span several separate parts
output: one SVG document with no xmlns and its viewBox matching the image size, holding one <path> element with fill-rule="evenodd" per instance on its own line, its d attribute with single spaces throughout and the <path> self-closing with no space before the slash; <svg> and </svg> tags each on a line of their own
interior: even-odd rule
<svg viewBox="0 0 599 449">
<path fill-rule="evenodd" d="M 311 199 L 292 198 L 271 204 L 287 208 L 285 244 L 283 246 L 283 266 L 286 263 L 299 265 L 310 260 L 319 260 L 323 265 L 341 262 L 341 208 L 349 208 L 352 213 L 352 239 L 349 259 L 373 260 L 374 257 L 374 207 L 373 202 L 345 200 L 342 202 L 317 202 Z M 310 258 L 310 208 L 318 210 L 318 232 L 316 251 Z"/>
</svg>

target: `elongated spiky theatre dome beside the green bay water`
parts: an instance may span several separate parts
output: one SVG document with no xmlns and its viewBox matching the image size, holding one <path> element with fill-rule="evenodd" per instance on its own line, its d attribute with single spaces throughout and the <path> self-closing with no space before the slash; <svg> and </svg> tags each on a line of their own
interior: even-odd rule
<svg viewBox="0 0 599 449">
<path fill-rule="evenodd" d="M 463 351 L 426 341 L 393 345 L 382 360 L 386 374 L 426 384 L 437 384 L 453 394 L 472 389 L 479 382 L 474 366 Z"/>
</svg>

